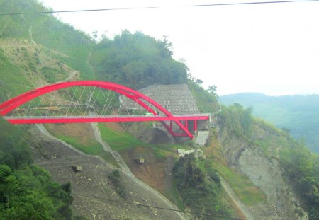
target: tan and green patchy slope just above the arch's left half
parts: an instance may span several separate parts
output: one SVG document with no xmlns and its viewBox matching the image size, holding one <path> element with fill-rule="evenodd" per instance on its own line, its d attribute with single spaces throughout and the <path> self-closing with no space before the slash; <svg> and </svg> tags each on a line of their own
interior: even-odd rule
<svg viewBox="0 0 319 220">
<path fill-rule="evenodd" d="M 29 40 L 0 40 L 0 101 L 48 83 L 77 79 L 79 72 L 61 61 L 62 55 Z"/>
</svg>

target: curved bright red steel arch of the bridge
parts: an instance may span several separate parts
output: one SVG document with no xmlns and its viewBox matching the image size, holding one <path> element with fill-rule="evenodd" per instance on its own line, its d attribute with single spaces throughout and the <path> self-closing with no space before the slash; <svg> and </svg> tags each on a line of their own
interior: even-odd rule
<svg viewBox="0 0 319 220">
<path fill-rule="evenodd" d="M 24 103 L 30 100 L 33 100 L 34 98 L 37 98 L 40 95 L 44 95 L 52 91 L 56 91 L 62 88 L 68 88 L 72 86 L 95 86 L 95 87 L 100 87 L 100 88 L 114 91 L 121 95 L 125 95 L 126 97 L 135 101 L 136 103 L 141 105 L 143 108 L 145 108 L 145 110 L 147 110 L 148 112 L 151 112 L 153 115 L 157 115 L 157 112 L 148 108 L 148 106 L 143 102 L 143 100 L 145 100 L 148 103 L 151 103 L 152 105 L 154 105 L 158 110 L 163 112 L 166 115 L 165 118 L 167 120 L 174 121 L 180 127 L 180 129 L 186 133 L 186 136 L 190 137 L 191 139 L 193 138 L 193 135 L 191 134 L 191 132 L 189 132 L 189 130 L 186 127 L 184 127 L 184 125 L 179 121 L 179 119 L 174 117 L 174 115 L 172 115 L 171 112 L 163 108 L 162 105 L 159 105 L 159 103 L 155 102 L 155 100 L 152 100 L 150 97 L 147 97 L 146 95 L 143 95 L 142 93 L 135 91 L 132 88 L 128 88 L 126 86 L 122 86 L 116 83 L 104 82 L 104 81 L 73 81 L 73 82 L 62 82 L 62 83 L 52 84 L 49 86 L 43 86 L 33 91 L 28 91 L 27 93 L 18 95 L 15 98 L 12 98 L 10 100 L 7 100 L 5 103 L 2 103 L 0 105 L 0 115 L 5 116 L 7 113 L 11 112 L 11 110 L 18 108 L 20 105 L 23 105 Z M 43 120 L 43 122 L 45 122 L 45 120 Z M 50 122 L 58 123 L 60 121 L 52 119 L 50 120 Z M 79 119 L 77 122 L 88 122 L 88 121 Z M 40 119 L 38 120 L 38 123 L 41 123 Z M 165 127 L 168 128 L 167 126 Z M 169 130 L 169 132 L 172 134 L 172 131 Z"/>
</svg>

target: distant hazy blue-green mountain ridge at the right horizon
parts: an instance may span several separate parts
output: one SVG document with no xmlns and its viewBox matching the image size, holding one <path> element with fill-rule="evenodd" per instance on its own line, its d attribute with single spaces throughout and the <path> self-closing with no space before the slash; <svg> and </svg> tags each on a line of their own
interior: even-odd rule
<svg viewBox="0 0 319 220">
<path fill-rule="evenodd" d="M 220 96 L 223 105 L 239 103 L 253 108 L 253 115 L 262 117 L 280 128 L 289 129 L 296 139 L 319 154 L 319 95 L 268 96 L 262 93 L 237 93 Z"/>
</svg>

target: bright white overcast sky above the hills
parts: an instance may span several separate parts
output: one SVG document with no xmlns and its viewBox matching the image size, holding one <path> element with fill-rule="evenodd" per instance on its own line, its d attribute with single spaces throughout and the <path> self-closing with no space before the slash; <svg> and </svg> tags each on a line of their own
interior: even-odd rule
<svg viewBox="0 0 319 220">
<path fill-rule="evenodd" d="M 54 11 L 159 6 L 55 16 L 109 38 L 125 29 L 167 36 L 174 59 L 183 60 L 204 88 L 216 85 L 219 95 L 319 94 L 319 1 L 198 7 L 181 6 L 252 0 L 41 1 Z"/>
</svg>

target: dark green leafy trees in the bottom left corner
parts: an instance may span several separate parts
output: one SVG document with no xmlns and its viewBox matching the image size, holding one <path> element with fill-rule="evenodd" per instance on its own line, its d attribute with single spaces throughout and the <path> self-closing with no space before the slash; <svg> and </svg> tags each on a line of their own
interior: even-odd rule
<svg viewBox="0 0 319 220">
<path fill-rule="evenodd" d="M 33 165 L 28 132 L 0 119 L 0 219 L 72 219 L 70 184 Z"/>
</svg>

